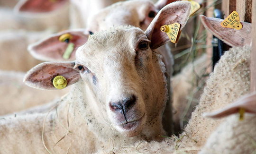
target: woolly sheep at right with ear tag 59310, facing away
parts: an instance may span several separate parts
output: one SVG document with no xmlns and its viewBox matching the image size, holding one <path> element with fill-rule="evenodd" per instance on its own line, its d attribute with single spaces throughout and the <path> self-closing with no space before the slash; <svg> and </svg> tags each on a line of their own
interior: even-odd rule
<svg viewBox="0 0 256 154">
<path fill-rule="evenodd" d="M 201 21 L 207 30 L 219 37 L 225 43 L 233 46 L 233 48 L 225 52 L 225 54 L 220 58 L 219 62 L 215 65 L 214 71 L 210 74 L 203 94 L 201 95 L 200 103 L 196 106 L 195 111 L 192 112 L 192 117 L 188 121 L 187 126 L 184 128 L 184 132 L 181 133 L 179 137 L 166 138 L 162 142 L 137 142 L 133 146 L 101 151 L 97 154 L 112 154 L 113 152 L 117 154 L 181 154 L 184 152 L 189 154 L 197 154 L 201 148 L 204 149 L 203 146 L 207 142 L 210 135 L 214 133 L 218 127 L 223 128 L 221 123 L 225 121 L 224 119 L 206 119 L 202 116 L 202 114 L 205 112 L 216 111 L 228 106 L 241 96 L 249 93 L 250 44 L 252 40 L 251 24 L 241 22 L 243 28 L 237 31 L 235 29 L 221 27 L 220 23 L 223 21 L 222 19 L 201 16 Z M 234 35 L 237 37 L 233 37 Z M 248 120 L 251 120 L 251 118 Z M 247 120 L 245 123 L 247 123 Z M 216 131 L 215 134 L 216 133 L 218 132 Z M 244 143 L 248 142 L 245 141 Z M 207 150 L 207 148 L 209 148 L 211 145 L 206 145 L 206 148 L 204 149 L 205 153 L 210 153 L 209 151 L 205 150 Z M 252 149 L 252 147 L 250 148 Z"/>
</svg>

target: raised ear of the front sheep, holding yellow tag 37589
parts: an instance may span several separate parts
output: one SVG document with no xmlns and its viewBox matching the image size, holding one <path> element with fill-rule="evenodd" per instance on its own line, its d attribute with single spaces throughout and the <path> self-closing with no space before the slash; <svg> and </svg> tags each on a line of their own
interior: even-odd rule
<svg viewBox="0 0 256 154">
<path fill-rule="evenodd" d="M 189 18 L 190 8 L 190 2 L 179 1 L 166 5 L 157 13 L 145 31 L 147 38 L 151 41 L 151 49 L 157 49 L 170 41 L 168 35 L 160 30 L 161 26 L 179 23 L 180 31 L 183 29 Z"/>
</svg>

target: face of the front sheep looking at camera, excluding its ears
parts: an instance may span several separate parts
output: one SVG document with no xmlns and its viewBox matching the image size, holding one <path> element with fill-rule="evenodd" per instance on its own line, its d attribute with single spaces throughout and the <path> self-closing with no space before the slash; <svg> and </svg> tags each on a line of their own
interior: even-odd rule
<svg viewBox="0 0 256 154">
<path fill-rule="evenodd" d="M 132 137 L 141 133 L 148 116 L 161 119 L 165 83 L 144 32 L 125 28 L 93 35 L 76 52 L 74 68 L 95 94 L 101 118 Z"/>
</svg>

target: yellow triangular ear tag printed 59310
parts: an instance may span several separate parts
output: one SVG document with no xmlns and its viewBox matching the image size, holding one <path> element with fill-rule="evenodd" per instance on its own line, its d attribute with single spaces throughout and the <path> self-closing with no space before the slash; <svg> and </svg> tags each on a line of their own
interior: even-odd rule
<svg viewBox="0 0 256 154">
<path fill-rule="evenodd" d="M 239 15 L 237 11 L 233 11 L 224 21 L 220 23 L 222 27 L 233 28 L 240 30 L 243 28 L 243 25 L 240 23 Z"/>
</svg>

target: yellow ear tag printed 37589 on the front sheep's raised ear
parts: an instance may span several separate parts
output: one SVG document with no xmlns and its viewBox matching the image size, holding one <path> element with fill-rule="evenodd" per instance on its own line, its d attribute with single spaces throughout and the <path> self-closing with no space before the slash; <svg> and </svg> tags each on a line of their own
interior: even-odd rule
<svg viewBox="0 0 256 154">
<path fill-rule="evenodd" d="M 161 31 L 165 32 L 169 36 L 172 43 L 177 43 L 180 37 L 180 27 L 181 24 L 179 23 L 164 25 L 161 26 Z"/>
</svg>

